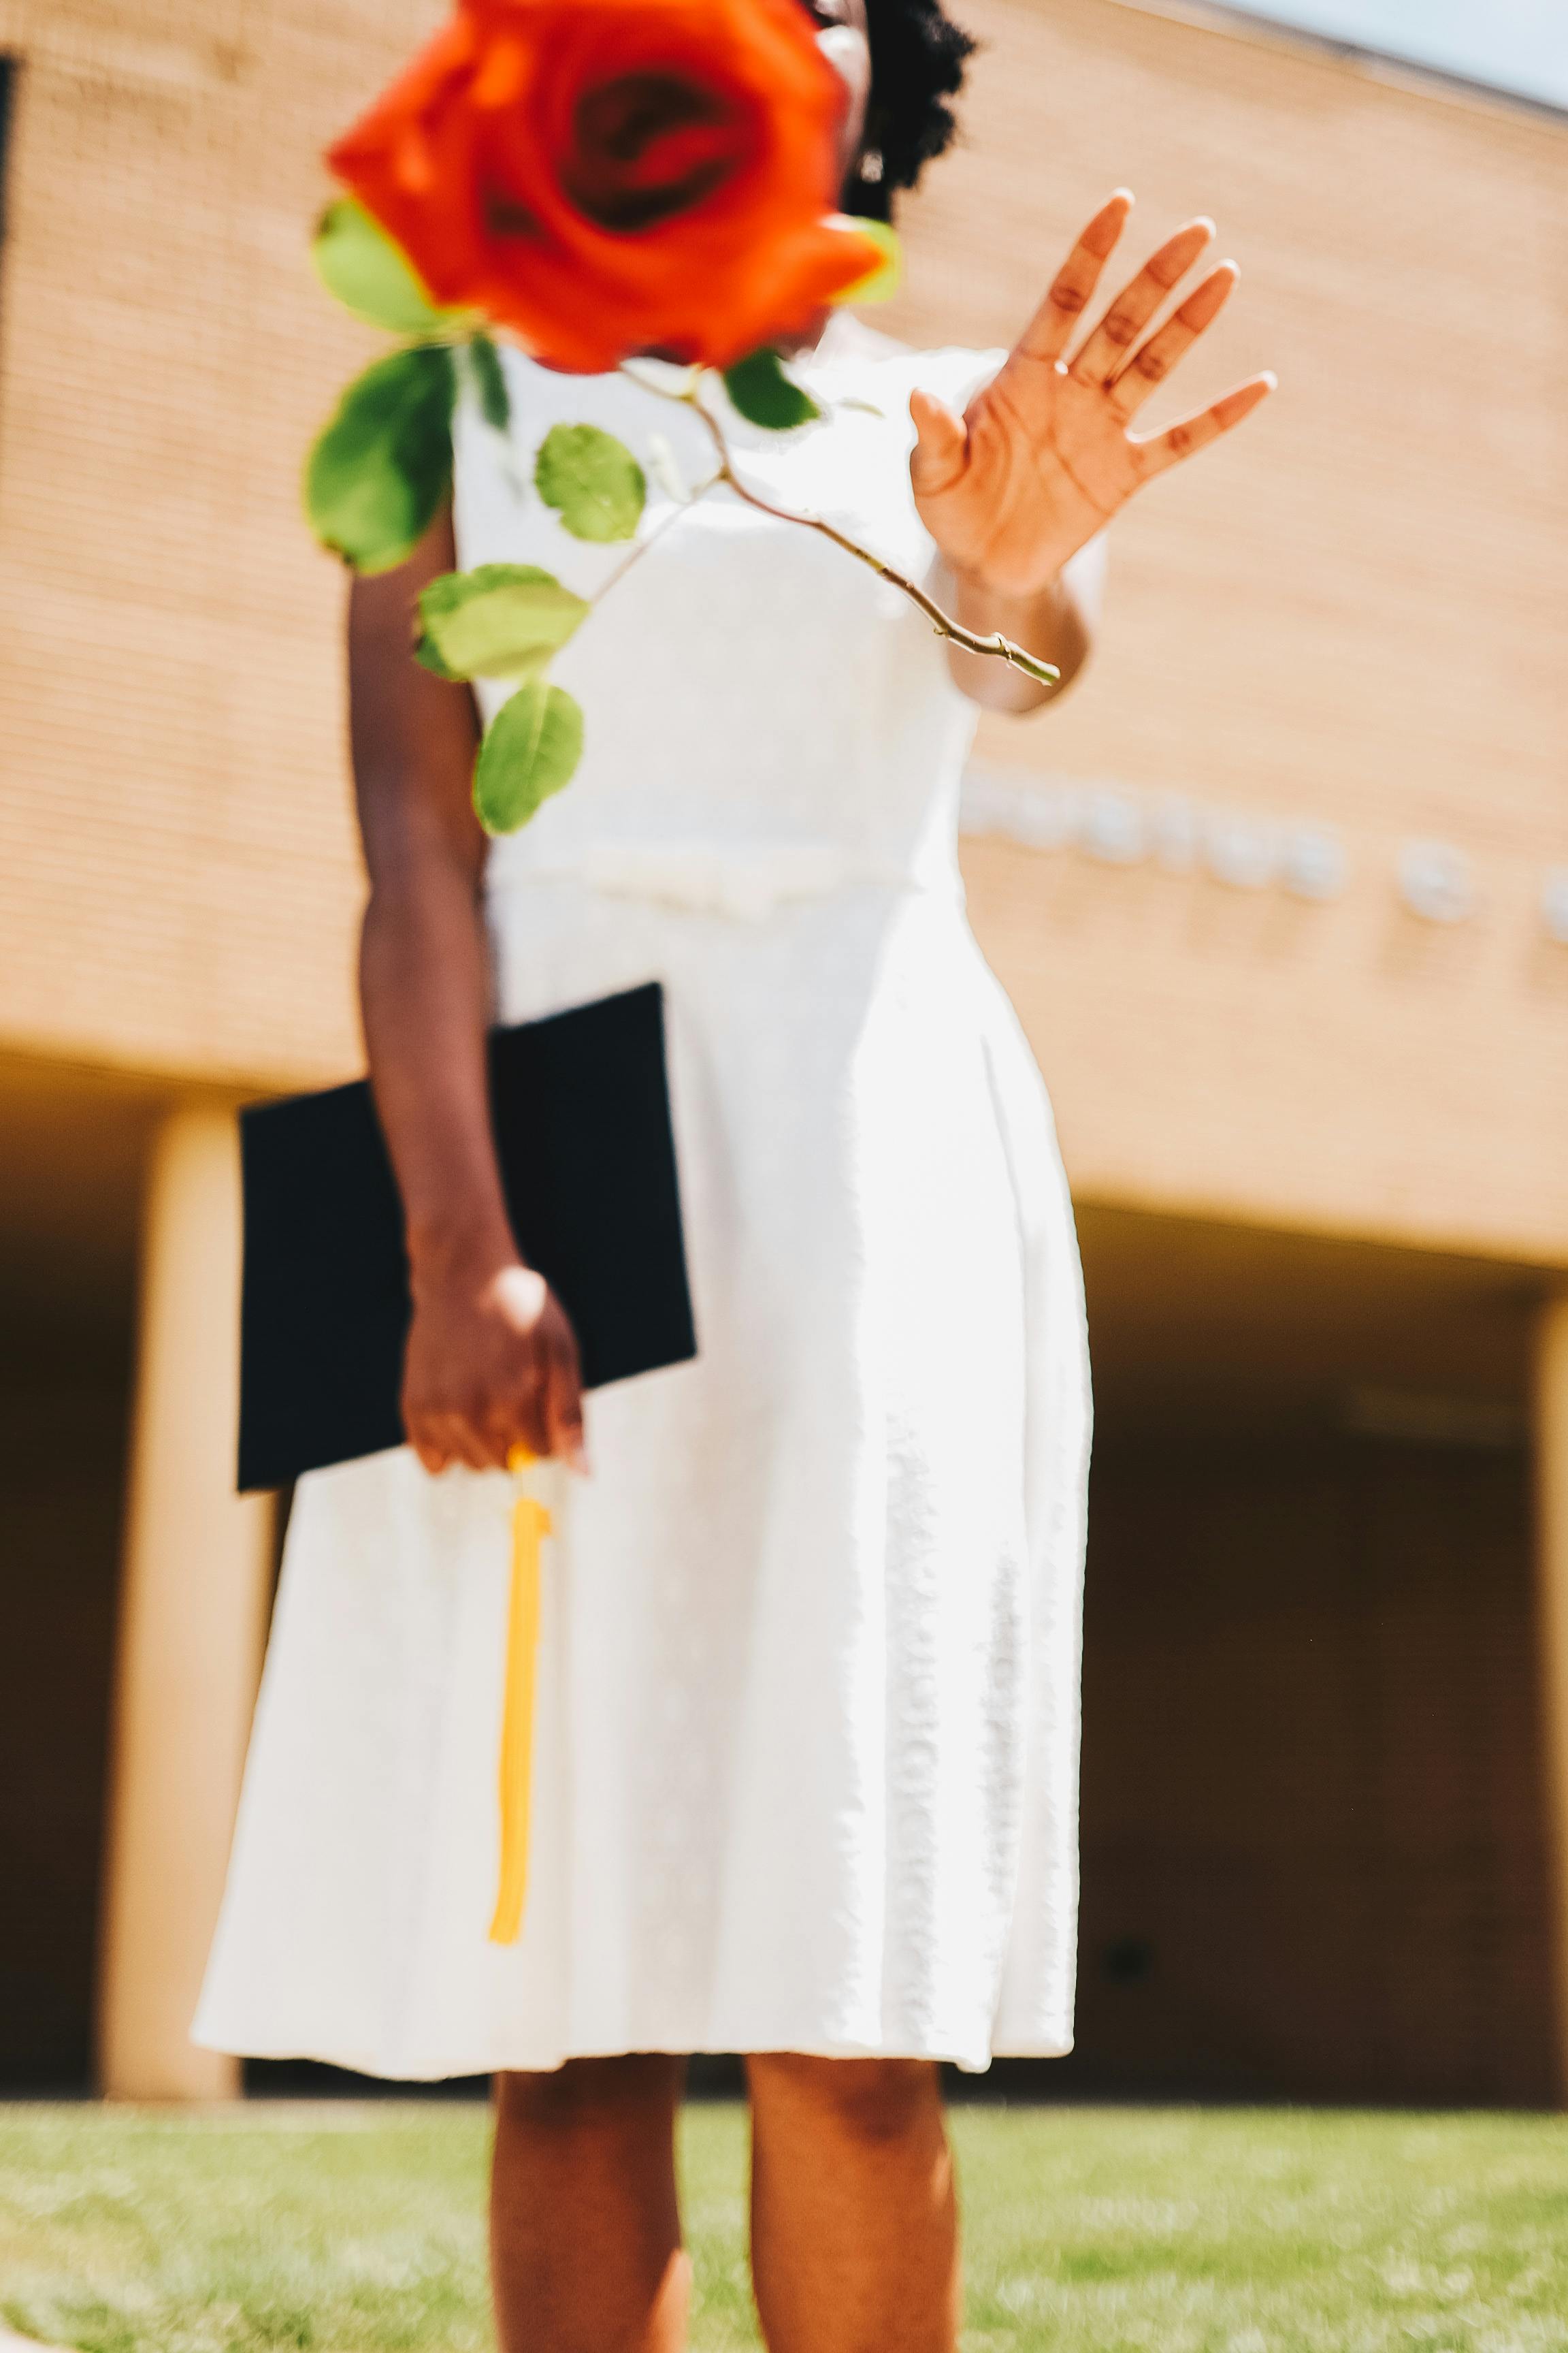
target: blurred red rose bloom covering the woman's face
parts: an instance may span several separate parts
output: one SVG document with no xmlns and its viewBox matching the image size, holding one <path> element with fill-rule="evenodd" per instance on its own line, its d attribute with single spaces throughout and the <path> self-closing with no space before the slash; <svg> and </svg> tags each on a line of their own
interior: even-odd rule
<svg viewBox="0 0 1568 2353">
<path fill-rule="evenodd" d="M 842 106 L 799 0 L 463 0 L 327 160 L 548 367 L 729 367 L 882 261 L 832 214 Z"/>
</svg>

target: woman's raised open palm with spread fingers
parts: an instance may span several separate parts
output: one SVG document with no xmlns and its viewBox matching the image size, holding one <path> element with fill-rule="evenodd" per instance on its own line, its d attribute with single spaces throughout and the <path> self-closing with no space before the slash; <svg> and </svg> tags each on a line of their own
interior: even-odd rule
<svg viewBox="0 0 1568 2353">
<path fill-rule="evenodd" d="M 1135 489 L 1229 433 L 1274 391 L 1274 376 L 1253 376 L 1164 433 L 1131 431 L 1237 282 L 1237 266 L 1220 264 L 1150 332 L 1206 252 L 1211 221 L 1190 221 L 1168 238 L 1067 358 L 1131 209 L 1124 191 L 1100 207 L 1016 351 L 961 419 L 931 393 L 910 398 L 910 480 L 922 522 L 947 565 L 994 595 L 1046 588 Z"/>
</svg>

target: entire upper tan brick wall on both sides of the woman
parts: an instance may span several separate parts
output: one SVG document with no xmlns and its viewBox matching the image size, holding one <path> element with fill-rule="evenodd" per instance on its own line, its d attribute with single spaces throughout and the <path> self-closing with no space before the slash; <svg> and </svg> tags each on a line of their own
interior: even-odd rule
<svg viewBox="0 0 1568 2353">
<path fill-rule="evenodd" d="M 362 344 L 303 271 L 322 139 L 423 0 L 0 0 L 0 1045 L 254 1082 L 357 1059 L 339 579 L 296 515 Z M 1213 209 L 1218 388 L 1284 393 L 1117 534 L 1023 772 L 1342 828 L 1331 906 L 976 845 L 1084 1195 L 1568 1261 L 1568 136 L 1119 0 L 971 0 L 969 141 L 900 332 L 997 341 L 1105 188 Z M 1481 913 L 1401 913 L 1401 835 Z"/>
</svg>

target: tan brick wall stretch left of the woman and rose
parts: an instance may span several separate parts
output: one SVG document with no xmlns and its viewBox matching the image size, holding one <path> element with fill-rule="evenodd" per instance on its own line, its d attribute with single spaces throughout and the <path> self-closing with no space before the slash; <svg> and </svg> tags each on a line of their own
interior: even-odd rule
<svg viewBox="0 0 1568 2353">
<path fill-rule="evenodd" d="M 308 435 L 371 339 L 303 266 L 324 136 L 440 12 L 0 0 L 0 1035 L 353 1068 L 360 880 Z"/>
</svg>

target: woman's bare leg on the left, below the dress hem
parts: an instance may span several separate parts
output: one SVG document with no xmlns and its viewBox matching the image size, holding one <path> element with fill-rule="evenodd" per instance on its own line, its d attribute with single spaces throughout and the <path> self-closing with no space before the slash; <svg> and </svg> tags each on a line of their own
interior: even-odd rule
<svg viewBox="0 0 1568 2353">
<path fill-rule="evenodd" d="M 489 2193 L 501 2353 L 679 2353 L 691 2264 L 675 2205 L 682 2061 L 496 2075 Z"/>
</svg>

